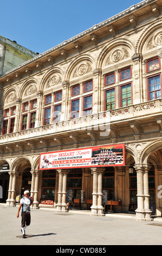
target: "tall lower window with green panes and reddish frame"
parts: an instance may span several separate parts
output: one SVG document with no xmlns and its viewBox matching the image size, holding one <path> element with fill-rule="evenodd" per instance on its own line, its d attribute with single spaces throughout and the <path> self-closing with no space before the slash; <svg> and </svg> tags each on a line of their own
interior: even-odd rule
<svg viewBox="0 0 162 256">
<path fill-rule="evenodd" d="M 131 83 L 125 84 L 120 87 L 120 105 L 126 107 L 132 104 L 132 85 Z"/>
</svg>

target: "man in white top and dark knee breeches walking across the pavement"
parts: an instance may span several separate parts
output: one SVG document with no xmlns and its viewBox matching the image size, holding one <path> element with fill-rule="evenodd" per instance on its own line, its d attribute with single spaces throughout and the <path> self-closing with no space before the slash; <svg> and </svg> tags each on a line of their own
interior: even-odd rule
<svg viewBox="0 0 162 256">
<path fill-rule="evenodd" d="M 31 216 L 30 216 L 30 205 L 33 204 L 33 200 L 29 198 L 29 191 L 24 191 L 24 197 L 20 200 L 20 206 L 17 212 L 17 218 L 19 217 L 19 212 L 22 207 L 22 221 L 21 221 L 21 231 L 23 238 L 25 237 L 25 229 L 30 225 Z"/>
</svg>

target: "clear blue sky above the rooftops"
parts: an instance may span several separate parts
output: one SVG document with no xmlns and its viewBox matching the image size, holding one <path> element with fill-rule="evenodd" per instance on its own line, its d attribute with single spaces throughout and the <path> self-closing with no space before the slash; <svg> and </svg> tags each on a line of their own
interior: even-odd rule
<svg viewBox="0 0 162 256">
<path fill-rule="evenodd" d="M 0 3 L 0 34 L 42 53 L 140 0 L 5 0 Z"/>
</svg>

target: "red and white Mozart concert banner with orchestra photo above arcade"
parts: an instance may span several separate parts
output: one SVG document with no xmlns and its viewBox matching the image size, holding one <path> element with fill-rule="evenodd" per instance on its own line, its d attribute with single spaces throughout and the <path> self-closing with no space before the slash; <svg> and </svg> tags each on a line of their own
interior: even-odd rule
<svg viewBox="0 0 162 256">
<path fill-rule="evenodd" d="M 62 150 L 40 154 L 41 169 L 67 169 L 125 165 L 125 145 Z"/>
</svg>

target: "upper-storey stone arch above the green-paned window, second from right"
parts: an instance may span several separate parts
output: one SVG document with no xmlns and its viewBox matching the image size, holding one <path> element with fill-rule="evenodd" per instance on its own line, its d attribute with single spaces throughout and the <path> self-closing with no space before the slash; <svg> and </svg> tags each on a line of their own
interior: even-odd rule
<svg viewBox="0 0 162 256">
<path fill-rule="evenodd" d="M 115 51 L 115 49 L 117 50 L 120 47 L 123 49 L 127 49 L 130 53 L 132 52 L 132 56 L 135 53 L 135 44 L 131 40 L 129 40 L 126 36 L 123 38 L 114 39 L 113 41 L 109 42 L 106 46 L 102 48 L 96 62 L 96 69 L 102 69 L 102 65 L 108 53 L 111 52 L 113 54 L 113 51 Z M 122 53 L 121 59 L 124 59 L 125 58 L 124 53 L 123 52 L 121 53 Z M 132 56 L 129 56 L 129 57 L 132 57 Z"/>
</svg>

